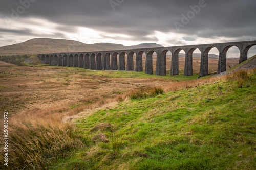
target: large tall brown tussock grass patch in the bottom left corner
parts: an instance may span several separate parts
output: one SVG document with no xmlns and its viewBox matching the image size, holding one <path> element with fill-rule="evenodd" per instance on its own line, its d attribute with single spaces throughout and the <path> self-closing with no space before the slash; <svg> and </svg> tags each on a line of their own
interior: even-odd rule
<svg viewBox="0 0 256 170">
<path fill-rule="evenodd" d="M 47 169 L 52 161 L 78 149 L 82 142 L 70 124 L 62 127 L 23 122 L 10 127 L 9 166 L 13 169 Z"/>
</svg>

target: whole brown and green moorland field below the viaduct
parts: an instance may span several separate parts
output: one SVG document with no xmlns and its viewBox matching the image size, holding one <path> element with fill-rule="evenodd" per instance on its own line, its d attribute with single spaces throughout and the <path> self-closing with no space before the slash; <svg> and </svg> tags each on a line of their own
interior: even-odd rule
<svg viewBox="0 0 256 170">
<path fill-rule="evenodd" d="M 193 61 L 189 77 L 184 57 L 178 76 L 0 61 L 8 168 L 255 169 L 256 70 L 197 79 Z"/>
</svg>

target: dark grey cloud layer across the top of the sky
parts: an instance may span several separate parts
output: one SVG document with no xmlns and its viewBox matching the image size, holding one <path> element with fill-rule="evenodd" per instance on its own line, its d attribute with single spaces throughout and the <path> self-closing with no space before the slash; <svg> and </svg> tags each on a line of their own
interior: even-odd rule
<svg viewBox="0 0 256 170">
<path fill-rule="evenodd" d="M 109 0 L 36 0 L 20 14 L 20 18 L 44 18 L 61 25 L 57 28 L 61 31 L 75 32 L 76 27 L 87 27 L 130 35 L 138 41 L 146 41 L 146 36 L 154 34 L 154 31 L 180 32 L 187 36 L 205 38 L 228 37 L 241 40 L 243 36 L 250 36 L 256 39 L 255 0 L 205 0 L 205 7 L 188 23 L 182 24 L 182 14 L 187 15 L 191 11 L 190 6 L 198 5 L 200 1 L 125 0 L 115 6 L 113 11 Z M 12 9 L 17 11 L 21 5 L 18 1 L 5 0 L 1 3 L 0 16 L 11 17 Z M 184 27 L 178 31 L 175 22 Z M 23 34 L 22 30 L 19 33 Z"/>
</svg>

